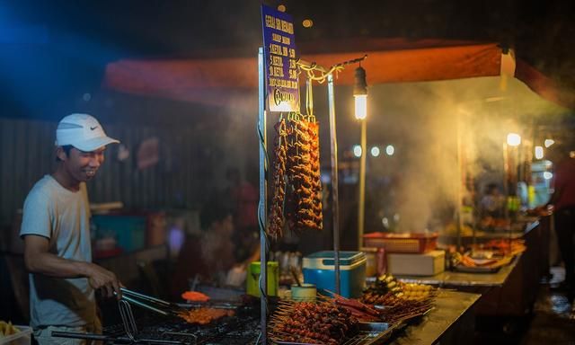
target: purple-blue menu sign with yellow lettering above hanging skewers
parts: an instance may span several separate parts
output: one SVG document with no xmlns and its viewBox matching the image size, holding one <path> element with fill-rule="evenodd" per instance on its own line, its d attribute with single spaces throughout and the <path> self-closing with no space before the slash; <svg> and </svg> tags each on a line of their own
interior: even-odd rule
<svg viewBox="0 0 575 345">
<path fill-rule="evenodd" d="M 266 104 L 270 111 L 299 111 L 294 23 L 287 13 L 261 5 Z"/>
</svg>

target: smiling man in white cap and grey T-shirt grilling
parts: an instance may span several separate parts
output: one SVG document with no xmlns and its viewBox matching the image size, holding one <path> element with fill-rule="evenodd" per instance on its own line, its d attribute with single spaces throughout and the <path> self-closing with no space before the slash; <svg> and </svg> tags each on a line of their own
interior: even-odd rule
<svg viewBox="0 0 575 345">
<path fill-rule="evenodd" d="M 36 182 L 24 201 L 24 262 L 30 271 L 31 327 L 40 345 L 59 344 L 51 332 L 102 332 L 94 290 L 120 295 L 114 273 L 92 263 L 90 208 L 85 182 L 93 179 L 107 137 L 97 119 L 72 114 L 56 129 L 57 168 Z M 84 344 L 66 340 L 66 344 Z"/>
</svg>

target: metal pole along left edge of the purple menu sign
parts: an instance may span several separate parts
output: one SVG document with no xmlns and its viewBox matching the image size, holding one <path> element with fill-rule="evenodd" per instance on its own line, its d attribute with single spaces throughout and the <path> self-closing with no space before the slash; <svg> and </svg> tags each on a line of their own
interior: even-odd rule
<svg viewBox="0 0 575 345">
<path fill-rule="evenodd" d="M 263 71 L 263 48 L 258 50 L 258 131 L 260 143 L 260 205 L 258 218 L 260 219 L 260 306 L 261 306 L 261 344 L 268 343 L 268 264 L 266 244 L 266 210 L 267 208 L 267 175 L 266 148 L 268 139 L 266 134 L 266 111 L 265 111 L 265 74 Z"/>
</svg>

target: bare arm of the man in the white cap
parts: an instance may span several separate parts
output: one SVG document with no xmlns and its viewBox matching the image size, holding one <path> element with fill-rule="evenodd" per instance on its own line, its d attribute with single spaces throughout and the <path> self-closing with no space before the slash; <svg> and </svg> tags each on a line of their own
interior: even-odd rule
<svg viewBox="0 0 575 345">
<path fill-rule="evenodd" d="M 92 262 L 68 260 L 50 253 L 46 237 L 35 234 L 24 236 L 24 263 L 32 273 L 57 278 L 87 278 L 93 288 L 102 290 L 102 294 L 111 297 L 115 291 L 117 297 L 121 297 L 121 284 L 114 273 Z"/>
</svg>

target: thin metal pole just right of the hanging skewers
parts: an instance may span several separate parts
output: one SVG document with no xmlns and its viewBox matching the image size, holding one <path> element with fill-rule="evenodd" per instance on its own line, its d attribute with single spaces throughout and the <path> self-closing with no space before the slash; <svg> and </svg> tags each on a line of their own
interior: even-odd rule
<svg viewBox="0 0 575 345">
<path fill-rule="evenodd" d="M 330 112 L 330 142 L 332 148 L 332 213 L 333 213 L 333 263 L 335 266 L 335 293 L 340 295 L 340 204 L 338 203 L 338 142 L 335 132 L 335 100 L 333 75 L 327 75 L 327 95 Z"/>
</svg>

